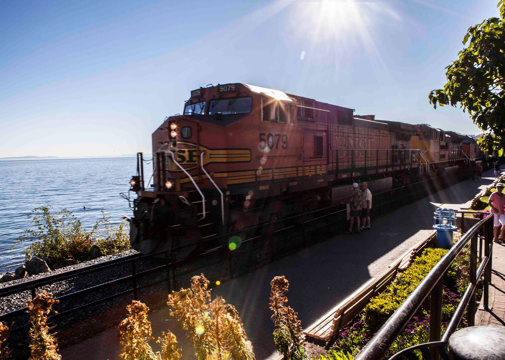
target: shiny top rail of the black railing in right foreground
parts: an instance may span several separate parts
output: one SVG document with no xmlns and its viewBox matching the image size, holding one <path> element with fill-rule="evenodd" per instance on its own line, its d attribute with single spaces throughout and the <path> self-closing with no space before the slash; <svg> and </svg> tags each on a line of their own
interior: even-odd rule
<svg viewBox="0 0 505 360">
<path fill-rule="evenodd" d="M 423 301 L 428 297 L 433 287 L 442 278 L 450 264 L 461 253 L 463 248 L 470 242 L 473 236 L 484 226 L 491 216 L 488 216 L 473 225 L 465 233 L 460 241 L 456 243 L 400 305 L 400 307 L 389 317 L 389 319 L 377 331 L 374 337 L 358 353 L 355 360 L 376 360 L 382 358 L 394 339 L 399 335 L 409 320 L 414 316 Z"/>
</svg>

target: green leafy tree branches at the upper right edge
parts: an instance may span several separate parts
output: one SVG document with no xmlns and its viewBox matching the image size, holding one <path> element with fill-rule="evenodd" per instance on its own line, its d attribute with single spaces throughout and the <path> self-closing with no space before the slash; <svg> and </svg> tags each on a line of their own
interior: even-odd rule
<svg viewBox="0 0 505 360">
<path fill-rule="evenodd" d="M 499 18 L 490 18 L 468 29 L 463 44 L 468 47 L 446 67 L 447 83 L 430 92 L 430 103 L 458 104 L 468 111 L 474 124 L 485 133 L 479 140 L 482 149 L 498 156 L 505 147 L 505 5 L 498 2 Z"/>
</svg>

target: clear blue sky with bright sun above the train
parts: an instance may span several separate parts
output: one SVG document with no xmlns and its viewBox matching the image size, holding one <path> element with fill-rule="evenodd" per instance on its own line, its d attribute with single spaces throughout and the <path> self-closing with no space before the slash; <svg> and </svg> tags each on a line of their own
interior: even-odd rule
<svg viewBox="0 0 505 360">
<path fill-rule="evenodd" d="M 150 153 L 190 91 L 247 83 L 465 134 L 428 102 L 497 0 L 0 2 L 0 157 Z"/>
</svg>

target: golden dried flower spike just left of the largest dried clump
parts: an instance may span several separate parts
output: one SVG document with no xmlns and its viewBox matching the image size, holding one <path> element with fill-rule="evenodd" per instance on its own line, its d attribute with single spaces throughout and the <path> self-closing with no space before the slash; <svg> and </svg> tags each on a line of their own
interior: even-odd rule
<svg viewBox="0 0 505 360">
<path fill-rule="evenodd" d="M 149 340 L 154 339 L 151 323 L 147 320 L 149 308 L 139 301 L 133 300 L 126 307 L 129 316 L 118 326 L 121 355 L 128 360 L 157 360 Z"/>
</svg>

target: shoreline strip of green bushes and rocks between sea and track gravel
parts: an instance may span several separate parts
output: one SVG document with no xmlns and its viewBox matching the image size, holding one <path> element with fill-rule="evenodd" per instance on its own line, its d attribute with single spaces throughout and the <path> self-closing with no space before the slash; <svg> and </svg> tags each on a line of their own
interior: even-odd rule
<svg viewBox="0 0 505 360">
<path fill-rule="evenodd" d="M 24 230 L 15 245 L 24 247 L 25 264 L 15 272 L 0 276 L 7 282 L 35 275 L 78 262 L 112 255 L 130 249 L 126 221 L 113 225 L 111 216 L 102 210 L 100 218 L 86 230 L 72 211 L 55 210 L 52 206 L 33 209 L 28 215 L 31 228 Z"/>
</svg>

